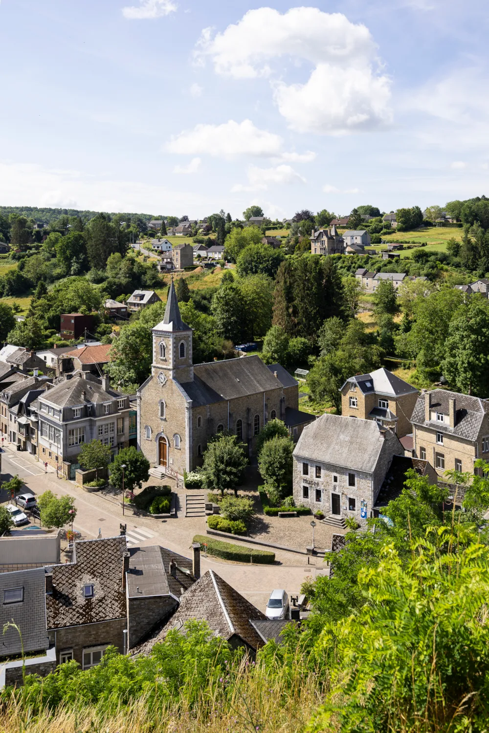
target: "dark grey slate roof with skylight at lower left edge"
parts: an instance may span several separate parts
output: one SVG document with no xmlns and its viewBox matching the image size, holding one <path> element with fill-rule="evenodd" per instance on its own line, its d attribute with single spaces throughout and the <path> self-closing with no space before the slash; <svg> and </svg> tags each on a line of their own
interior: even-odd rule
<svg viewBox="0 0 489 733">
<path fill-rule="evenodd" d="M 23 588 L 22 603 L 4 604 L 4 590 L 13 588 Z M 3 630 L 4 624 L 12 619 L 21 629 L 24 652 L 48 649 L 43 567 L 0 573 L 0 628 Z M 21 651 L 17 630 L 8 629 L 0 634 L 0 657 Z"/>
</svg>

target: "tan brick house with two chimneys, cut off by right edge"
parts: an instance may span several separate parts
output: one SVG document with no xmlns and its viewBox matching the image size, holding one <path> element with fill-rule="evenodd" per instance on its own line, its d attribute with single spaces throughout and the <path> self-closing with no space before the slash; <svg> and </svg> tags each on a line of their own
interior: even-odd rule
<svg viewBox="0 0 489 733">
<path fill-rule="evenodd" d="M 477 458 L 489 460 L 489 401 L 445 389 L 422 392 L 413 410 L 413 450 L 438 476 L 474 473 Z"/>
</svg>

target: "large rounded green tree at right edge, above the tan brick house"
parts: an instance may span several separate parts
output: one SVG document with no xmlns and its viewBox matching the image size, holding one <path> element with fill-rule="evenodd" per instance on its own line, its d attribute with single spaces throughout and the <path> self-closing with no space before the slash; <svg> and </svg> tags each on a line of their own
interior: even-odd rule
<svg viewBox="0 0 489 733">
<path fill-rule="evenodd" d="M 489 303 L 473 296 L 450 321 L 441 369 L 466 394 L 489 394 Z"/>
</svg>

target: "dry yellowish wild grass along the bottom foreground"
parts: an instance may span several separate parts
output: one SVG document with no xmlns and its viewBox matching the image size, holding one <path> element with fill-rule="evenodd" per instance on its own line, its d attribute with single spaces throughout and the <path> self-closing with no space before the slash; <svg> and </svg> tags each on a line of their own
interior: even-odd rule
<svg viewBox="0 0 489 733">
<path fill-rule="evenodd" d="M 157 680 L 161 684 L 162 680 Z M 29 710 L 10 699 L 0 710 L 2 733 L 299 733 L 323 701 L 322 675 L 307 671 L 304 661 L 288 665 L 243 659 L 219 684 L 203 685 L 188 701 L 185 688 L 177 699 L 147 690 L 117 710 L 103 704 L 61 704 Z"/>
</svg>

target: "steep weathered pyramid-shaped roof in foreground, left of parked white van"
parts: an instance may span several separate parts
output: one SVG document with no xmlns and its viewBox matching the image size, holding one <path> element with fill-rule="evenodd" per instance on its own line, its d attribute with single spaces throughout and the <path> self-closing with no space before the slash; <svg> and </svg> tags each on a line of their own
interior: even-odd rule
<svg viewBox="0 0 489 733">
<path fill-rule="evenodd" d="M 239 636 L 251 649 L 262 645 L 262 638 L 250 623 L 250 619 L 265 619 L 258 608 L 229 586 L 213 570 L 199 578 L 180 598 L 180 606 L 169 622 L 133 652 L 149 654 L 152 647 L 163 641 L 172 629 L 181 629 L 186 621 L 206 621 L 216 636 L 227 641 Z"/>
</svg>

